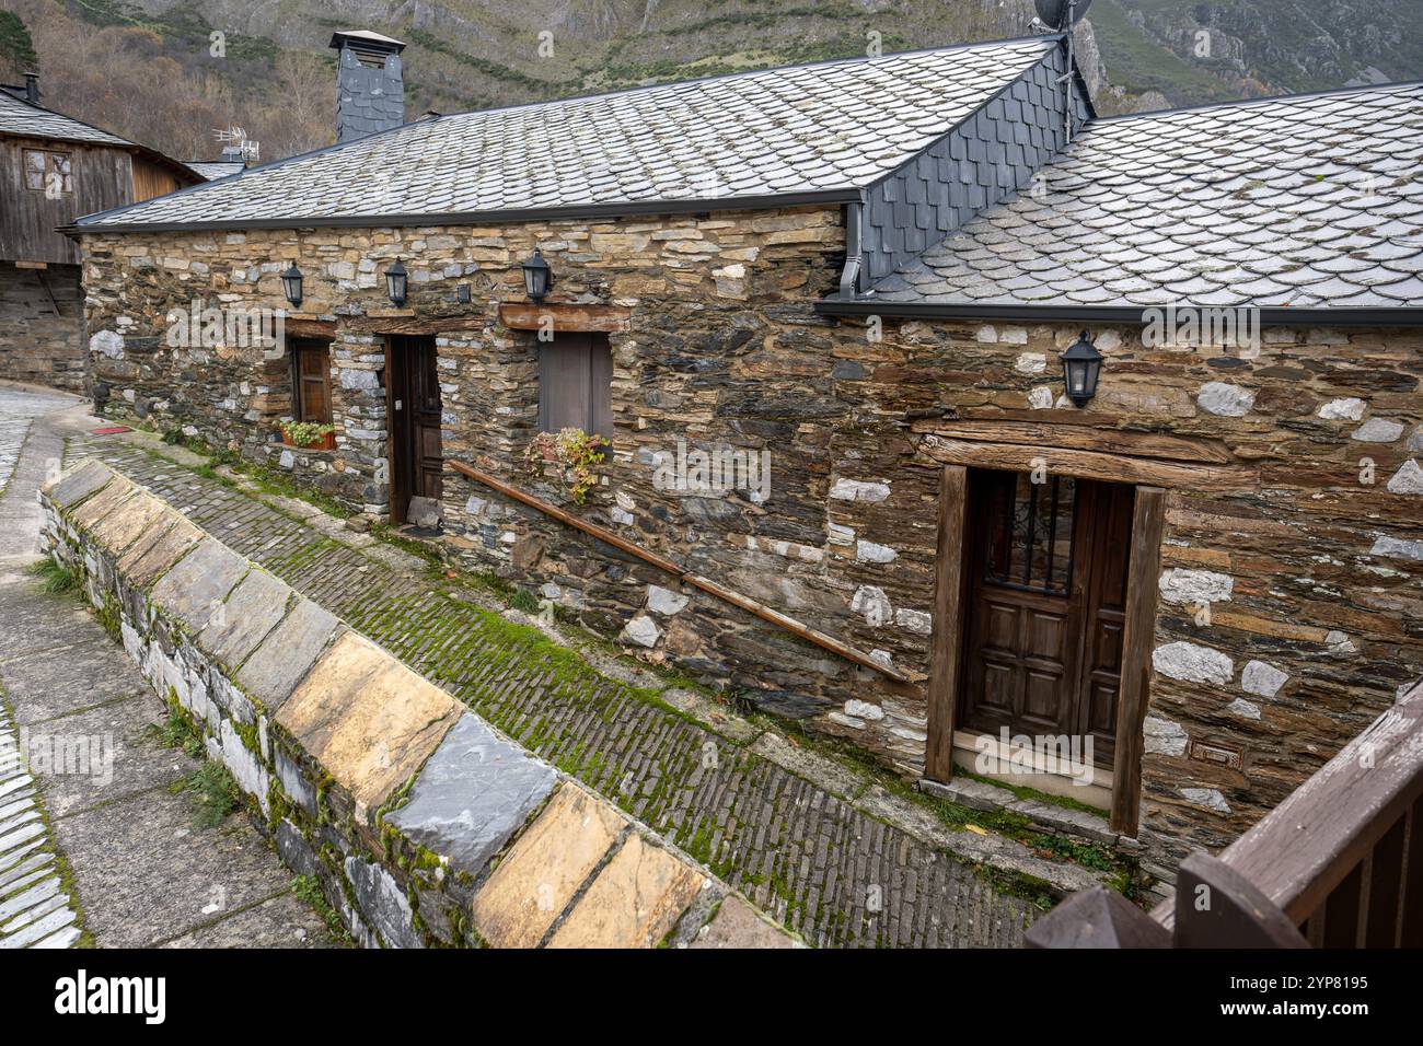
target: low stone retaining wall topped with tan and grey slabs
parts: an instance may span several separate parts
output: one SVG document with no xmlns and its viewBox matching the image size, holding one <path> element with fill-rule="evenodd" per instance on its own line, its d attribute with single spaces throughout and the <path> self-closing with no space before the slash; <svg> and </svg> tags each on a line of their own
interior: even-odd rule
<svg viewBox="0 0 1423 1046">
<path fill-rule="evenodd" d="M 44 549 L 366 946 L 785 946 L 616 807 L 97 461 Z"/>
</svg>

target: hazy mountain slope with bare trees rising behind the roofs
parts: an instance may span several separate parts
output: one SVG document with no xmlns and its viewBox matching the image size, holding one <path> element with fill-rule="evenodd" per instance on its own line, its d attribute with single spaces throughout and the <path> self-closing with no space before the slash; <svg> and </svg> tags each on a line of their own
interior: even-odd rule
<svg viewBox="0 0 1423 1046">
<path fill-rule="evenodd" d="M 1096 0 L 1077 57 L 1103 112 L 1356 75 L 1423 75 L 1417 0 Z M 0 0 L 46 101 L 182 158 L 242 128 L 276 159 L 333 135 L 336 28 L 408 43 L 407 112 L 613 90 L 1030 31 L 1032 0 Z M 1308 17 L 1306 17 L 1308 16 Z M 1348 28 L 1328 30 L 1340 20 Z M 1205 31 L 1211 56 L 1197 57 Z M 221 33 L 213 43 L 213 33 Z M 11 26 L 10 37 L 17 33 Z M 14 50 L 14 48 L 11 48 Z M 1368 56 L 1376 58 L 1368 58 Z M 1375 61 L 1369 71 L 1365 60 Z M 0 77 L 6 67 L 0 48 Z M 1124 90 L 1123 90 L 1124 88 Z M 867 98 L 867 105 L 874 100 Z"/>
</svg>

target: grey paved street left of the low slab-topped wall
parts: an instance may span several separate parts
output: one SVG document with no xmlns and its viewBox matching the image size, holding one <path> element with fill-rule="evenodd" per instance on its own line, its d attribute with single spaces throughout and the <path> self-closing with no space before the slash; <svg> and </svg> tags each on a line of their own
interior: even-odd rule
<svg viewBox="0 0 1423 1046">
<path fill-rule="evenodd" d="M 245 817 L 194 825 L 174 788 L 199 763 L 158 743 L 164 703 L 75 593 L 26 571 L 64 430 L 94 424 L 75 397 L 0 384 L 0 949 L 81 928 L 100 946 L 329 945 Z"/>
</svg>

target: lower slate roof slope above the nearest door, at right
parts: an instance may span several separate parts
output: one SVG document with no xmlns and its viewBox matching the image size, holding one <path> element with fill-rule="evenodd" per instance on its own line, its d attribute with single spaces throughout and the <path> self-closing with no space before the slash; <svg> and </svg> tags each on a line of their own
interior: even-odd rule
<svg viewBox="0 0 1423 1046">
<path fill-rule="evenodd" d="M 1423 84 L 1099 120 L 861 300 L 1423 306 Z"/>
</svg>

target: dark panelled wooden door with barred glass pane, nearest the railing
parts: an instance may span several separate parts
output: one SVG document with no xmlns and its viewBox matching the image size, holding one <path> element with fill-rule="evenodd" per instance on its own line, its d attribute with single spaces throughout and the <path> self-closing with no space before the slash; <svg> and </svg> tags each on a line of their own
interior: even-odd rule
<svg viewBox="0 0 1423 1046">
<path fill-rule="evenodd" d="M 1110 766 L 1133 488 L 973 471 L 958 723 L 998 736 L 1093 736 Z"/>
</svg>

